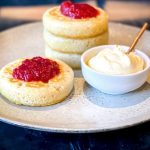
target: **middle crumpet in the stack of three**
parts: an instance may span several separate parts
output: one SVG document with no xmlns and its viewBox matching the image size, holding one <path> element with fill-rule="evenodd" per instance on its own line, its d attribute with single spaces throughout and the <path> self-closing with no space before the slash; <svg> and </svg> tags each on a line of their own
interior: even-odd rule
<svg viewBox="0 0 150 150">
<path fill-rule="evenodd" d="M 108 32 L 91 38 L 71 39 L 56 36 L 44 30 L 44 40 L 55 51 L 68 54 L 82 54 L 91 47 L 108 44 Z"/>
</svg>

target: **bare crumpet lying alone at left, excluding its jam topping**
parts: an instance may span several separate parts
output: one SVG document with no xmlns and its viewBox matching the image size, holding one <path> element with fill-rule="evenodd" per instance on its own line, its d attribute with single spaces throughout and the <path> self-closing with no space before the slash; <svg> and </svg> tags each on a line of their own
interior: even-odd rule
<svg viewBox="0 0 150 150">
<path fill-rule="evenodd" d="M 0 70 L 0 93 L 9 101 L 19 105 L 47 106 L 61 102 L 69 95 L 74 73 L 67 64 L 54 60 L 59 65 L 60 73 L 47 83 L 25 82 L 12 76 L 14 68 L 20 66 L 23 60 L 18 59 Z"/>
</svg>

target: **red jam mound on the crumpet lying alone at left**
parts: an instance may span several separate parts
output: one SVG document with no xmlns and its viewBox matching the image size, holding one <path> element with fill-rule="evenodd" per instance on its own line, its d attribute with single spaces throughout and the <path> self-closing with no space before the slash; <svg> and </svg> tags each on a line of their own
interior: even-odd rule
<svg viewBox="0 0 150 150">
<path fill-rule="evenodd" d="M 42 81 L 47 83 L 60 73 L 57 62 L 42 57 L 25 59 L 20 66 L 13 70 L 13 78 L 26 82 Z"/>
</svg>

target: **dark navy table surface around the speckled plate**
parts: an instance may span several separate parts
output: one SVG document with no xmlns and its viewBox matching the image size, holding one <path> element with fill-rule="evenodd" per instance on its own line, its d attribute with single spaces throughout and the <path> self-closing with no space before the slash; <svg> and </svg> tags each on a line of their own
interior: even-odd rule
<svg viewBox="0 0 150 150">
<path fill-rule="evenodd" d="M 31 21 L 31 20 L 30 20 Z M 0 31 L 28 23 L 28 20 L 0 19 Z M 116 19 L 116 21 L 118 21 Z M 121 20 L 142 26 L 150 18 Z M 103 133 L 58 134 L 41 132 L 0 122 L 0 150 L 141 150 L 150 149 L 150 122 L 134 127 Z"/>
</svg>

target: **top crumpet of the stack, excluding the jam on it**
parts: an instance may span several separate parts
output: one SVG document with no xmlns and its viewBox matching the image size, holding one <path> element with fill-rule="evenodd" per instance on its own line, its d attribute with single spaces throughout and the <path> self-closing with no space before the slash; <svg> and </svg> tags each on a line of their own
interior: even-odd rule
<svg viewBox="0 0 150 150">
<path fill-rule="evenodd" d="M 46 30 L 57 36 L 67 38 L 89 38 L 103 34 L 108 30 L 107 13 L 95 7 L 99 15 L 85 19 L 72 19 L 60 12 L 60 7 L 48 9 L 43 15 Z"/>
</svg>

